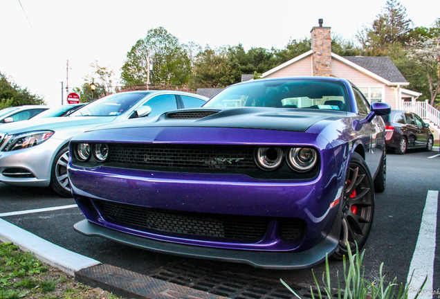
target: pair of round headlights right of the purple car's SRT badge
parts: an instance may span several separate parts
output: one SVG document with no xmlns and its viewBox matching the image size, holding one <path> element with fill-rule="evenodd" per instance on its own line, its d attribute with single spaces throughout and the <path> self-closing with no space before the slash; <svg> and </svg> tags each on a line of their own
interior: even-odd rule
<svg viewBox="0 0 440 299">
<path fill-rule="evenodd" d="M 286 151 L 286 155 L 279 147 L 259 147 L 255 160 L 263 170 L 275 170 L 282 164 L 284 156 L 288 165 L 297 172 L 311 170 L 318 161 L 318 152 L 311 147 L 292 147 Z"/>
</svg>

